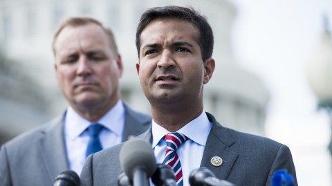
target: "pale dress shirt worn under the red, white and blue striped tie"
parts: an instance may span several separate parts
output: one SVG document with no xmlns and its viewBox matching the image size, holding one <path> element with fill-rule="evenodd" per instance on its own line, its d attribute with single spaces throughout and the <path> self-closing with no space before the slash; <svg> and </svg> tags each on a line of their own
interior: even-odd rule
<svg viewBox="0 0 332 186">
<path fill-rule="evenodd" d="M 206 140 L 208 140 L 211 127 L 212 123 L 208 120 L 205 111 L 203 111 L 199 117 L 176 131 L 183 133 L 189 138 L 176 151 L 181 161 L 184 186 L 190 185 L 190 172 L 194 169 L 198 169 L 201 165 Z M 169 133 L 169 131 L 152 121 L 152 147 L 154 148 L 157 163 L 163 162 L 166 152 L 166 141 L 163 140 L 163 137 L 167 133 Z"/>
</svg>

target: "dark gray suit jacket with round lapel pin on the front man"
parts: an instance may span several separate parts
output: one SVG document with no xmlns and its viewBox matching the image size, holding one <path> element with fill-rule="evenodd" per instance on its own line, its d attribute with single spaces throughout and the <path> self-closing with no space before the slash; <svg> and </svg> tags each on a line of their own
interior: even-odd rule
<svg viewBox="0 0 332 186">
<path fill-rule="evenodd" d="M 270 185 L 273 173 L 286 169 L 296 180 L 291 151 L 279 142 L 268 138 L 241 133 L 222 127 L 213 115 L 207 113 L 212 129 L 206 142 L 201 167 L 207 167 L 216 178 L 236 185 Z M 151 142 L 151 128 L 138 136 Z M 89 156 L 80 175 L 82 186 L 116 185 L 122 171 L 119 151 L 123 143 Z M 219 156 L 223 164 L 214 167 L 211 158 Z M 187 179 L 187 178 L 185 178 Z M 297 184 L 296 184 L 297 185 Z"/>
</svg>

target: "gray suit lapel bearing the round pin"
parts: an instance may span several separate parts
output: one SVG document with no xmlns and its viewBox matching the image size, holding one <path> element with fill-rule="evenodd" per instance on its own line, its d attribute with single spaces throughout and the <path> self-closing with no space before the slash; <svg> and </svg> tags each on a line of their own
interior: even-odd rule
<svg viewBox="0 0 332 186">
<path fill-rule="evenodd" d="M 232 136 L 216 122 L 213 115 L 210 113 L 207 113 L 207 115 L 210 122 L 212 122 L 212 129 L 205 145 L 201 167 L 210 169 L 216 174 L 216 178 L 225 180 L 239 154 L 230 148 L 235 142 Z M 223 160 L 220 166 L 212 165 L 211 159 L 214 156 Z"/>
</svg>

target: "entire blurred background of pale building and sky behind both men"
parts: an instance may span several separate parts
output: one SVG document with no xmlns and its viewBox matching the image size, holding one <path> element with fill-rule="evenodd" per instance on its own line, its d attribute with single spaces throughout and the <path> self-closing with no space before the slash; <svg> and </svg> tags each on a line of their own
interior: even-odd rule
<svg viewBox="0 0 332 186">
<path fill-rule="evenodd" d="M 89 15 L 113 30 L 122 99 L 149 113 L 135 32 L 142 12 L 166 5 L 200 10 L 214 30 L 205 111 L 226 127 L 288 145 L 299 185 L 332 185 L 331 0 L 0 0 L 0 145 L 66 109 L 51 43 L 69 16 Z"/>
</svg>

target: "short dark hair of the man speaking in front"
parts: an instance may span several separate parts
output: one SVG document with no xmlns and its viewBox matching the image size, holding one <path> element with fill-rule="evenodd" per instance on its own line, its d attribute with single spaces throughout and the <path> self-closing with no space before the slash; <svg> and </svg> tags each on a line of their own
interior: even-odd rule
<svg viewBox="0 0 332 186">
<path fill-rule="evenodd" d="M 199 46 L 201 47 L 203 62 L 212 57 L 213 52 L 213 32 L 207 19 L 194 8 L 181 6 L 165 6 L 149 8 L 140 17 L 140 22 L 136 30 L 136 48 L 140 57 L 140 35 L 147 25 L 155 19 L 180 19 L 188 21 L 199 28 Z"/>
</svg>

